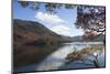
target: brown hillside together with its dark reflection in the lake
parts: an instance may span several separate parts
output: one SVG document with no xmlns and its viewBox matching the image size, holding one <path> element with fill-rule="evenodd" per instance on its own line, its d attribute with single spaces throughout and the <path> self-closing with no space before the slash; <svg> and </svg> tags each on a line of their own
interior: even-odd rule
<svg viewBox="0 0 110 74">
<path fill-rule="evenodd" d="M 52 53 L 57 44 L 68 41 L 70 41 L 69 36 L 56 34 L 38 22 L 13 20 L 15 65 L 38 62 L 46 54 Z"/>
</svg>

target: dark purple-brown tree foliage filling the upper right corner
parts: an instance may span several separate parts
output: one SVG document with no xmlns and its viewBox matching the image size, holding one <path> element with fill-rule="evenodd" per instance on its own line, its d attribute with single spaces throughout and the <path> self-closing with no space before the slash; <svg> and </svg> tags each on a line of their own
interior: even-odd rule
<svg viewBox="0 0 110 74">
<path fill-rule="evenodd" d="M 85 39 L 94 39 L 106 31 L 105 7 L 77 7 L 76 27 L 84 29 Z"/>
</svg>

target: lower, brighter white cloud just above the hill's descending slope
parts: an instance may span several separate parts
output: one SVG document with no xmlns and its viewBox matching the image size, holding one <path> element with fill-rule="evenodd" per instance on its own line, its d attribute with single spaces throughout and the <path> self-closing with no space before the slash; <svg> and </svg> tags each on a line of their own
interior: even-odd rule
<svg viewBox="0 0 110 74">
<path fill-rule="evenodd" d="M 65 25 L 56 25 L 51 30 L 62 35 L 72 35 L 72 29 Z"/>
</svg>

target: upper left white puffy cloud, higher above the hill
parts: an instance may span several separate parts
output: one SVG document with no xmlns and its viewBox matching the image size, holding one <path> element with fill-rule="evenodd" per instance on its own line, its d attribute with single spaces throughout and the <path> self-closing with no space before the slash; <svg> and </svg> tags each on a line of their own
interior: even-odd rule
<svg viewBox="0 0 110 74">
<path fill-rule="evenodd" d="M 65 22 L 63 19 L 61 19 L 56 14 L 48 14 L 48 13 L 43 13 L 43 12 L 37 12 L 35 14 L 35 19 L 40 20 L 43 23 L 52 23 L 52 24 Z"/>
</svg>

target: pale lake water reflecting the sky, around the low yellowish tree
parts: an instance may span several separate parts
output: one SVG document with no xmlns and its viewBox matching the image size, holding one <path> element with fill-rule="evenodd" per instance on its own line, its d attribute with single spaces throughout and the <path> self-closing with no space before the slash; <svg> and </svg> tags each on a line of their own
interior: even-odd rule
<svg viewBox="0 0 110 74">
<path fill-rule="evenodd" d="M 67 54 L 77 50 L 90 45 L 102 45 L 102 42 L 73 42 L 64 43 L 62 47 L 58 47 L 55 52 L 50 54 L 41 63 L 26 65 L 18 68 L 18 72 L 30 72 L 30 71 L 50 71 L 50 70 L 69 70 L 69 68 L 82 68 L 82 67 L 95 67 L 94 65 L 75 64 L 74 62 L 65 64 Z M 101 67 L 105 66 L 105 51 L 98 57 Z"/>
</svg>

